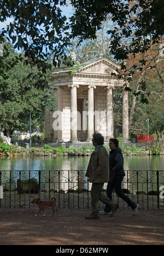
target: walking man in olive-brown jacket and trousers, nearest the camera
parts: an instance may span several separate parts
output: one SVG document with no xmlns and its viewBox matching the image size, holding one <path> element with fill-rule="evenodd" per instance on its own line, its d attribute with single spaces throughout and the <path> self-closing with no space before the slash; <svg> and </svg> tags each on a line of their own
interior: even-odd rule
<svg viewBox="0 0 164 256">
<path fill-rule="evenodd" d="M 86 171 L 86 177 L 89 178 L 89 182 L 92 183 L 91 188 L 91 206 L 92 213 L 86 216 L 86 219 L 99 219 L 98 202 L 101 200 L 108 205 L 112 210 L 112 216 L 114 216 L 118 204 L 110 200 L 106 195 L 102 194 L 102 188 L 104 183 L 109 181 L 109 160 L 108 152 L 103 147 L 104 137 L 101 133 L 93 133 L 92 138 L 95 151 L 92 153 L 89 165 Z"/>
</svg>

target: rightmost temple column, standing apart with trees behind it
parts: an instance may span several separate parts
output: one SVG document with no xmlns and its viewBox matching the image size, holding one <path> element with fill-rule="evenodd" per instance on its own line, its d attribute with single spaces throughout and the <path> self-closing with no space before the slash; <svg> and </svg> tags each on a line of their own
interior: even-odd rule
<svg viewBox="0 0 164 256">
<path fill-rule="evenodd" d="M 128 91 L 123 89 L 122 95 L 122 139 L 128 140 Z"/>
</svg>

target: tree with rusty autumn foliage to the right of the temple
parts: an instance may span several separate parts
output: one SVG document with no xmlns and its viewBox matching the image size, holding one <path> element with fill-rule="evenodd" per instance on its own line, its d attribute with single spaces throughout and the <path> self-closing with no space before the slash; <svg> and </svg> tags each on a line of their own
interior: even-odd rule
<svg viewBox="0 0 164 256">
<path fill-rule="evenodd" d="M 164 61 L 163 61 L 162 54 L 158 54 L 159 52 L 160 52 L 160 45 L 154 44 L 147 51 L 146 55 L 137 54 L 135 58 L 131 55 L 131 58 L 129 58 L 129 61 L 127 62 L 127 66 L 131 67 L 132 65 L 137 63 L 139 59 L 142 59 L 143 57 L 146 60 L 151 60 L 153 58 L 152 65 L 149 67 L 143 66 L 143 70 L 136 72 L 136 78 L 133 78 L 133 82 L 130 83 L 131 88 L 134 90 L 134 94 L 131 102 L 129 130 L 131 129 L 135 108 L 137 104 L 140 103 L 140 101 L 143 101 L 143 98 L 144 98 L 144 102 L 149 103 L 149 106 L 147 108 L 147 113 L 149 113 L 149 109 L 151 107 L 153 108 L 154 106 L 154 110 L 156 109 L 155 112 L 157 111 L 157 109 L 159 109 L 159 114 L 157 114 L 158 118 L 160 118 L 161 120 L 163 119 L 162 113 L 164 111 L 164 104 L 163 104 Z M 148 119 L 148 117 L 146 119 Z M 157 123 L 157 120 L 156 120 L 156 123 Z M 132 129 L 134 129 L 134 126 Z M 162 131 L 161 129 L 162 129 L 162 126 L 160 129 L 158 128 L 159 131 Z"/>
</svg>

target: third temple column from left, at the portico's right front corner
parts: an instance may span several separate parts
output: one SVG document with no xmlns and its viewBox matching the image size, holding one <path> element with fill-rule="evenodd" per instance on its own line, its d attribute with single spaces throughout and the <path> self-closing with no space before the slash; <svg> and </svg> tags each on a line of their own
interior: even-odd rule
<svg viewBox="0 0 164 256">
<path fill-rule="evenodd" d="M 107 139 L 114 138 L 114 109 L 113 109 L 113 87 L 107 90 Z"/>
</svg>

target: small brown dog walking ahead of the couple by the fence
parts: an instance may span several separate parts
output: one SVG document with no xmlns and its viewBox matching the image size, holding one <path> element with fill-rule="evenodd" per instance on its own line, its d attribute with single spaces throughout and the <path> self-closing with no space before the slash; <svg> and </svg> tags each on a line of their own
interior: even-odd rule
<svg viewBox="0 0 164 256">
<path fill-rule="evenodd" d="M 54 199 L 54 200 L 53 200 Z M 48 208 L 49 206 L 51 206 L 52 208 L 52 215 L 54 215 L 55 211 L 57 213 L 57 209 L 56 209 L 56 197 L 52 196 L 51 200 L 48 201 L 42 201 L 40 200 L 40 198 L 34 198 L 34 200 L 31 203 L 37 203 L 37 205 L 39 206 L 39 211 L 37 212 L 36 216 L 38 216 L 38 213 L 43 211 L 43 216 L 45 216 L 45 209 Z M 57 213 L 58 214 L 58 213 Z"/>
</svg>

